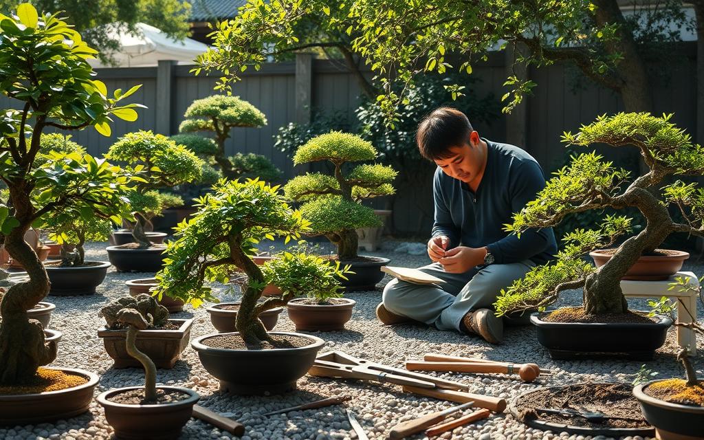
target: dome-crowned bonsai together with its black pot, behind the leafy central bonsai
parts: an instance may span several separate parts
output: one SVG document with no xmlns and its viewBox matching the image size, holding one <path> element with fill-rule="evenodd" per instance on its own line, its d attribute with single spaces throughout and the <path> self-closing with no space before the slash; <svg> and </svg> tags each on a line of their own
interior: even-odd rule
<svg viewBox="0 0 704 440">
<path fill-rule="evenodd" d="M 161 268 L 163 244 L 153 244 L 146 234 L 151 215 L 161 213 L 165 201 L 181 205 L 155 187 L 173 187 L 201 178 L 203 161 L 182 145 L 151 131 L 127 133 L 108 150 L 107 158 L 136 163 L 134 170 L 144 172 L 144 180 L 129 194 L 133 205 L 134 243 L 108 246 L 108 259 L 120 272 L 156 272 Z"/>
</svg>

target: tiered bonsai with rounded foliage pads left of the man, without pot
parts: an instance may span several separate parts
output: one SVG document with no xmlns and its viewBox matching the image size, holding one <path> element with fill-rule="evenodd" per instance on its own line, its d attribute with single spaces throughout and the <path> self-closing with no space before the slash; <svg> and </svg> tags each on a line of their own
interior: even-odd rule
<svg viewBox="0 0 704 440">
<path fill-rule="evenodd" d="M 391 185 L 397 172 L 387 165 L 357 165 L 346 172 L 348 162 L 373 161 L 377 150 L 355 134 L 329 132 L 310 139 L 294 156 L 294 163 L 329 161 L 334 176 L 320 172 L 291 179 L 284 191 L 301 206 L 314 234 L 325 235 L 337 246 L 339 260 L 357 257 L 358 227 L 375 227 L 381 220 L 374 210 L 359 203 L 363 199 L 394 194 Z"/>
</svg>

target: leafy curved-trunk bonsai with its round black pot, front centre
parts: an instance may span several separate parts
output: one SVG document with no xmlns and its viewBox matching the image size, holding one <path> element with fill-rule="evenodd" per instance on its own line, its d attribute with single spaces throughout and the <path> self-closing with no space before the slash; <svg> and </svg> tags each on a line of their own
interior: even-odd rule
<svg viewBox="0 0 704 440">
<path fill-rule="evenodd" d="M 332 282 L 339 267 L 310 273 L 303 257 L 279 258 L 277 286 L 281 296 L 263 301 L 262 289 L 272 281 L 265 276 L 268 265 L 252 261 L 254 244 L 282 235 L 298 238 L 308 222 L 291 210 L 277 187 L 248 180 L 221 181 L 196 206 L 199 212 L 179 226 L 175 241 L 168 244 L 168 263 L 156 278 L 159 290 L 198 306 L 217 301 L 206 280 L 227 282 L 234 267 L 249 277 L 243 289 L 235 326 L 237 332 L 206 334 L 191 341 L 203 367 L 220 380 L 220 389 L 237 394 L 281 393 L 294 389 L 323 345 L 320 338 L 291 332 L 267 332 L 258 316 L 265 310 L 285 306 L 304 282 Z M 296 274 L 287 276 L 287 274 Z M 321 278 L 322 275 L 322 278 Z"/>
</svg>

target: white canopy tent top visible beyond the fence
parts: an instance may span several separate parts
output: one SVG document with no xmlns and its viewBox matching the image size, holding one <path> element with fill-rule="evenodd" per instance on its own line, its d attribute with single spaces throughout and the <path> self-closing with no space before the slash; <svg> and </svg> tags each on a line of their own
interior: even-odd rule
<svg viewBox="0 0 704 440">
<path fill-rule="evenodd" d="M 193 64 L 194 58 L 206 50 L 208 46 L 194 39 L 186 38 L 182 42 L 168 37 L 156 27 L 137 23 L 139 34 L 108 32 L 111 38 L 118 39 L 121 47 L 113 52 L 116 66 L 106 65 L 98 59 L 88 60 L 93 68 L 108 67 L 146 67 L 157 65 L 159 60 L 175 60 L 179 64 Z"/>
</svg>

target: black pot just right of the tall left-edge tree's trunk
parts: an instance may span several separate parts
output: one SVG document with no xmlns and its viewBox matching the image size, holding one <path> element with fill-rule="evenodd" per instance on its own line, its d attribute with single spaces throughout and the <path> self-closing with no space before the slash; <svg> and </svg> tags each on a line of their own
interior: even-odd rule
<svg viewBox="0 0 704 440">
<path fill-rule="evenodd" d="M 105 279 L 110 268 L 107 261 L 86 261 L 85 265 L 75 268 L 60 268 L 46 265 L 46 275 L 49 275 L 51 289 L 49 295 L 93 295 L 95 289 Z"/>
</svg>

